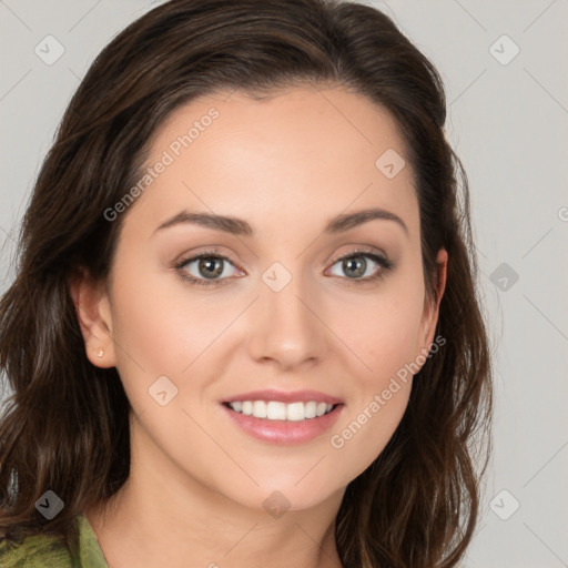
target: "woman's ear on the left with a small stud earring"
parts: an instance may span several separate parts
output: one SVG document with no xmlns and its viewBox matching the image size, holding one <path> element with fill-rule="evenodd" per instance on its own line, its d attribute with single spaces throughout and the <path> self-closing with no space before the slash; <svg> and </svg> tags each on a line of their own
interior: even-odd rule
<svg viewBox="0 0 568 568">
<path fill-rule="evenodd" d="M 75 314 L 84 338 L 87 357 L 98 367 L 115 366 L 112 317 L 103 283 L 81 268 L 69 282 Z"/>
</svg>

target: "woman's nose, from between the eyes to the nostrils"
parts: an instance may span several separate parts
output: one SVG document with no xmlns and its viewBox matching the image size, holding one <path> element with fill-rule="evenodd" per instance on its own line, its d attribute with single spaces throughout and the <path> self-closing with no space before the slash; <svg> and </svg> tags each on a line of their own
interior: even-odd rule
<svg viewBox="0 0 568 568">
<path fill-rule="evenodd" d="M 251 314 L 250 354 L 281 371 L 314 365 L 325 356 L 326 329 L 320 303 L 306 293 L 300 277 L 278 292 L 261 282 L 261 297 Z"/>
</svg>

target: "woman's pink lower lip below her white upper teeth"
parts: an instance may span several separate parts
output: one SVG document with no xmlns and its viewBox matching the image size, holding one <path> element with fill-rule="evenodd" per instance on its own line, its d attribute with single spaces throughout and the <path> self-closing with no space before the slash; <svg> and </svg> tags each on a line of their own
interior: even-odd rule
<svg viewBox="0 0 568 568">
<path fill-rule="evenodd" d="M 328 430 L 339 418 L 344 405 L 337 405 L 331 413 L 323 416 L 297 422 L 255 418 L 254 416 L 236 413 L 225 405 L 222 405 L 222 407 L 231 420 L 250 436 L 262 442 L 293 445 L 311 442 Z"/>
</svg>

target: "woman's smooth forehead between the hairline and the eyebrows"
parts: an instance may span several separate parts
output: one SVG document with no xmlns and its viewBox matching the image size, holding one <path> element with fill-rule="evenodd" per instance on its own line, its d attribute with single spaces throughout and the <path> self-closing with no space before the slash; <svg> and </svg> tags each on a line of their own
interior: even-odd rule
<svg viewBox="0 0 568 568">
<path fill-rule="evenodd" d="M 258 223 L 301 223 L 384 206 L 412 224 L 410 168 L 389 178 L 383 155 L 404 163 L 395 120 L 345 88 L 294 88 L 260 100 L 219 92 L 176 109 L 158 129 L 145 166 L 168 165 L 134 210 L 152 227 L 181 209 L 250 220 L 254 210 Z"/>
</svg>

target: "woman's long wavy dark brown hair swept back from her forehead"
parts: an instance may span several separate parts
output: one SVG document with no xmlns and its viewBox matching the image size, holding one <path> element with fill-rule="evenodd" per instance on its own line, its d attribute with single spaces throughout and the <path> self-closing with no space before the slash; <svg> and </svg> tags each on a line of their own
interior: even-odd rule
<svg viewBox="0 0 568 568">
<path fill-rule="evenodd" d="M 436 329 L 446 343 L 417 373 L 388 445 L 347 486 L 337 550 L 348 568 L 447 568 L 462 558 L 490 454 L 478 435 L 491 418 L 467 176 L 444 134 L 432 63 L 378 10 L 333 0 L 172 0 L 89 69 L 39 173 L 0 303 L 0 371 L 13 388 L 0 424 L 6 538 L 64 538 L 75 515 L 129 476 L 130 404 L 116 369 L 87 358 L 69 283 L 78 267 L 109 274 L 121 220 L 103 212 L 136 184 L 156 128 L 202 94 L 258 97 L 315 81 L 353 88 L 395 118 L 415 178 L 428 298 L 436 253 L 448 252 Z M 50 521 L 34 507 L 48 489 L 64 501 Z"/>
</svg>

